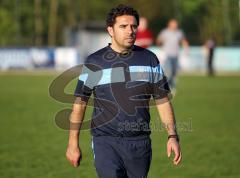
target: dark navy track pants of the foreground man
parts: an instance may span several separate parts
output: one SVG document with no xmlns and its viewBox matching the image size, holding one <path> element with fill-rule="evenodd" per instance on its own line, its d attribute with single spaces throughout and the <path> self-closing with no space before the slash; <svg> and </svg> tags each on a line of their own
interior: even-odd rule
<svg viewBox="0 0 240 178">
<path fill-rule="evenodd" d="M 92 146 L 99 178 L 147 178 L 152 158 L 149 136 L 93 137 Z"/>
</svg>

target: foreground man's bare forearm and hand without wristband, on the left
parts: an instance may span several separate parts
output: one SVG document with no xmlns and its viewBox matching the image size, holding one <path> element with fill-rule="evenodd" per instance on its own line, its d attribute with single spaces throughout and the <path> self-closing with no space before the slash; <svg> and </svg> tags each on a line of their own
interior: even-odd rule
<svg viewBox="0 0 240 178">
<path fill-rule="evenodd" d="M 81 149 L 79 147 L 79 133 L 86 111 L 86 102 L 77 97 L 70 116 L 69 140 L 66 151 L 68 161 L 78 167 L 81 160 Z"/>
</svg>

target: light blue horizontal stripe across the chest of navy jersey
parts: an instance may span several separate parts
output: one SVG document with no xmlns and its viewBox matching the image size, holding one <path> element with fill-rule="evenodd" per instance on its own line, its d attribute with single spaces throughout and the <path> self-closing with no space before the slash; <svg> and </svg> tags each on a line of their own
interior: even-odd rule
<svg viewBox="0 0 240 178">
<path fill-rule="evenodd" d="M 131 81 L 157 83 L 163 78 L 163 71 L 160 65 L 156 67 L 130 66 L 129 72 Z M 91 81 L 88 80 L 89 75 L 91 75 Z M 124 68 L 108 68 L 96 72 L 88 70 L 87 73 L 82 73 L 79 76 L 79 80 L 83 81 L 84 85 L 89 88 L 97 85 L 125 82 Z"/>
</svg>

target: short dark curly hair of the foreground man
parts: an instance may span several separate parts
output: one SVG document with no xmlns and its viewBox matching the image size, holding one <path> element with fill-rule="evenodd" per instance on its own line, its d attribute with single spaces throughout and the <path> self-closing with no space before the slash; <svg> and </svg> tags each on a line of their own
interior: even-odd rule
<svg viewBox="0 0 240 178">
<path fill-rule="evenodd" d="M 117 7 L 112 8 L 107 15 L 106 25 L 107 27 L 112 27 L 116 22 L 116 17 L 122 15 L 131 15 L 136 18 L 137 25 L 139 25 L 139 15 L 138 12 L 131 6 L 119 4 Z"/>
</svg>

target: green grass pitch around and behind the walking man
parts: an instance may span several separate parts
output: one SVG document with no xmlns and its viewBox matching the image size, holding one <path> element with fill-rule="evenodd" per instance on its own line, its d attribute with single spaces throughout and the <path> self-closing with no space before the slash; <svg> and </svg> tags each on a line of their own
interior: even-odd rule
<svg viewBox="0 0 240 178">
<path fill-rule="evenodd" d="M 94 178 L 91 136 L 81 132 L 83 160 L 73 168 L 65 158 L 68 132 L 54 115 L 70 104 L 53 100 L 54 75 L 0 75 L 0 177 Z M 72 91 L 74 82 L 67 91 Z M 181 136 L 180 166 L 166 156 L 166 132 L 151 108 L 153 158 L 149 178 L 240 177 L 240 77 L 181 76 L 173 99 Z M 90 117 L 91 108 L 86 118 Z"/>
</svg>

